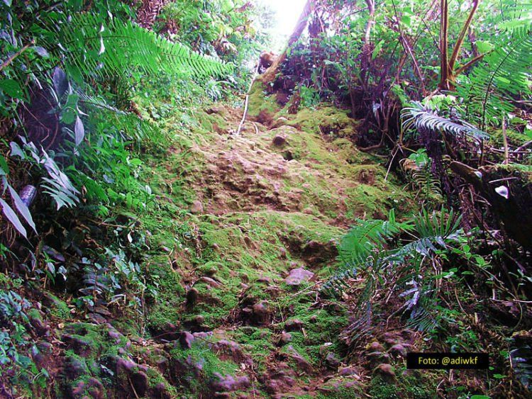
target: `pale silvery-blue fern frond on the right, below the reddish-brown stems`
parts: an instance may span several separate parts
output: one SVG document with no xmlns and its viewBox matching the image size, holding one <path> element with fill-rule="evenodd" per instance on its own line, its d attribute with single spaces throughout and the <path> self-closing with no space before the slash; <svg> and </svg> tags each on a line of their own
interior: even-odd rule
<svg viewBox="0 0 532 399">
<path fill-rule="evenodd" d="M 456 122 L 443 116 L 438 116 L 436 111 L 424 107 L 419 101 L 414 101 L 413 106 L 403 108 L 401 111 L 402 128 L 407 130 L 428 129 L 459 136 L 472 137 L 476 140 L 485 140 L 489 136 L 462 120 Z M 460 122 L 460 123 L 458 123 Z"/>
</svg>

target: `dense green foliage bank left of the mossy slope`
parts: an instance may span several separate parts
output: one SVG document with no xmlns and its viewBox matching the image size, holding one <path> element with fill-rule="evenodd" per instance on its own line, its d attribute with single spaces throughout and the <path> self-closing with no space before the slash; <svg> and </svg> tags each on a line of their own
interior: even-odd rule
<svg viewBox="0 0 532 399">
<path fill-rule="evenodd" d="M 25 279 L 72 293 L 81 310 L 126 300 L 142 319 L 145 296 L 157 294 L 140 275 L 145 237 L 132 220 L 115 237 L 99 230 L 102 219 L 121 225 L 123 213 L 155 207 L 140 157 L 164 150 L 169 136 L 155 108 L 141 115 L 136 103 L 164 93 L 184 129 L 192 103 L 247 84 L 243 57 L 265 40 L 250 28 L 255 9 L 171 3 L 156 30 L 142 27 L 141 8 L 137 15 L 120 1 L 3 1 L 0 9 L 1 269 L 16 265 Z M 204 25 L 174 35 L 162 21 Z M 101 241 L 87 245 L 89 235 Z M 30 305 L 9 281 L 1 285 L 1 389 L 44 388 L 48 373 L 24 354 L 38 352 L 25 327 Z"/>
</svg>

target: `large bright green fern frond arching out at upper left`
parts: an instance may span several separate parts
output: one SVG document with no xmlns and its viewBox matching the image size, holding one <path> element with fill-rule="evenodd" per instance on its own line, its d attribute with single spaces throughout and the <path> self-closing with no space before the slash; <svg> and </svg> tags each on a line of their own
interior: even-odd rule
<svg viewBox="0 0 532 399">
<path fill-rule="evenodd" d="M 59 33 L 67 50 L 67 69 L 82 75 L 182 72 L 204 77 L 222 75 L 230 68 L 131 21 L 104 21 L 86 13 Z"/>
</svg>

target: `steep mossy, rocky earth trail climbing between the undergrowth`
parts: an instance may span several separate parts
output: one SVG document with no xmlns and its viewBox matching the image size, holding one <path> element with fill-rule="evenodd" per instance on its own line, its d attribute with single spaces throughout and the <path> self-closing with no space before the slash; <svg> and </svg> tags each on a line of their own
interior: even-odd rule
<svg viewBox="0 0 532 399">
<path fill-rule="evenodd" d="M 265 118 L 256 98 L 250 105 L 240 135 L 242 111 L 224 104 L 186 128 L 174 113 L 162 120 L 176 134 L 167 151 L 145 155 L 157 206 L 136 222 L 157 296 L 142 317 L 114 305 L 57 319 L 50 356 L 71 397 L 359 398 L 375 373 L 395 378 L 390 356 L 414 334 L 375 332 L 350 356 L 342 335 L 357 295 L 319 288 L 341 266 L 349 225 L 408 213 L 409 194 L 353 145 L 347 111 Z M 45 306 L 68 310 L 55 297 Z"/>
</svg>

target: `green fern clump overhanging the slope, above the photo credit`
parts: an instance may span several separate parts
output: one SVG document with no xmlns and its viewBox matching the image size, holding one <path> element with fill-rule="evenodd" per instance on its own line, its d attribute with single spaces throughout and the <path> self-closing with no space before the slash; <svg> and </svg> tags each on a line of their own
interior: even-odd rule
<svg viewBox="0 0 532 399">
<path fill-rule="evenodd" d="M 453 210 L 428 213 L 423 210 L 409 223 L 397 223 L 393 218 L 360 221 L 340 245 L 340 259 L 345 270 L 330 279 L 322 290 L 337 294 L 349 287 L 349 279 L 365 271 L 365 286 L 358 293 L 358 308 L 366 308 L 386 281 L 394 281 L 394 291 L 404 299 L 397 313 L 409 314 L 409 322 L 426 330 L 436 321 L 433 317 L 435 300 L 431 279 L 426 277 L 427 259 L 438 262 L 440 252 L 458 247 L 462 242 L 460 217 Z M 392 226 L 392 227 L 390 227 Z M 409 242 L 387 249 L 387 243 L 401 232 L 413 237 Z M 353 324 L 349 337 L 358 336 L 360 325 Z M 352 342 L 353 339 L 351 339 Z"/>
</svg>

